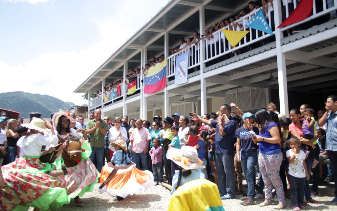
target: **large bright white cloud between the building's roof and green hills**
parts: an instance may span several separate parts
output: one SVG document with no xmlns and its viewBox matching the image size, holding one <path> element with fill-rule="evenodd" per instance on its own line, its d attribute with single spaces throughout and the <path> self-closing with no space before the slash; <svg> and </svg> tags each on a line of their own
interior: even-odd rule
<svg viewBox="0 0 337 211">
<path fill-rule="evenodd" d="M 9 0 L 44 2 L 47 0 Z M 10 65 L 0 61 L 2 80 L 1 92 L 25 91 L 46 94 L 77 105 L 88 103 L 81 96 L 72 93 L 87 79 L 112 53 L 120 47 L 137 29 L 146 23 L 167 0 L 139 3 L 125 1 L 116 14 L 104 20 L 93 19 L 101 34 L 101 40 L 88 49 L 69 52 L 48 52 L 25 64 Z M 151 4 L 154 11 L 147 10 Z M 133 15 L 130 15 L 133 14 Z M 116 21 L 118 20 L 118 21 Z M 46 51 L 48 51 L 46 49 Z"/>
</svg>

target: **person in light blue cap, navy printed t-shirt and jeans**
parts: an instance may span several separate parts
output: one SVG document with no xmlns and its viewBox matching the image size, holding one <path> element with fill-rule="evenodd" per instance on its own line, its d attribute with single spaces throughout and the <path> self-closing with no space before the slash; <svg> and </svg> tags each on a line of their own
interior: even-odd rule
<svg viewBox="0 0 337 211">
<path fill-rule="evenodd" d="M 254 200 L 254 174 L 257 161 L 257 141 L 253 141 L 250 131 L 258 135 L 258 128 L 253 126 L 255 115 L 249 112 L 242 115 L 243 126 L 235 132 L 236 154 L 241 162 L 243 174 L 247 180 L 248 193 L 243 197 L 242 205 L 253 205 Z"/>
</svg>

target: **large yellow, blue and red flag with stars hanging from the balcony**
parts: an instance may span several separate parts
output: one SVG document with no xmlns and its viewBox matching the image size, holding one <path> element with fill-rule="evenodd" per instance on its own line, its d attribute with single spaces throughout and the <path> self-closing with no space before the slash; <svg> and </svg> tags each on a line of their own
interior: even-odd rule
<svg viewBox="0 0 337 211">
<path fill-rule="evenodd" d="M 144 93 L 155 93 L 166 87 L 166 65 L 167 60 L 150 67 L 144 78 Z"/>
</svg>

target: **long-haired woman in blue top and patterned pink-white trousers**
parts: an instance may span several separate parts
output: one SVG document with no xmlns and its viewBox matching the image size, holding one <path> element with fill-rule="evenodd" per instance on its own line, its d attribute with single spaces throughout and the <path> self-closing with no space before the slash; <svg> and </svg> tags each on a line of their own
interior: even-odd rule
<svg viewBox="0 0 337 211">
<path fill-rule="evenodd" d="M 283 155 L 280 149 L 281 130 L 265 109 L 256 112 L 256 123 L 260 128 L 260 135 L 252 135 L 258 145 L 258 166 L 265 183 L 265 201 L 261 207 L 271 204 L 272 188 L 275 187 L 279 204 L 275 209 L 283 209 L 285 205 L 283 184 L 280 178 L 280 166 Z"/>
</svg>

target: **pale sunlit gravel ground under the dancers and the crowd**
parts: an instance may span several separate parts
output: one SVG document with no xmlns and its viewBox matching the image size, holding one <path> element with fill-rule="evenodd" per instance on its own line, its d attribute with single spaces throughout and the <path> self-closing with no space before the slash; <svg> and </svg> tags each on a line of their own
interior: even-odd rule
<svg viewBox="0 0 337 211">
<path fill-rule="evenodd" d="M 245 184 L 245 181 L 244 181 Z M 332 185 L 332 183 L 331 183 Z M 245 185 L 243 185 L 245 186 Z M 81 201 L 85 204 L 82 207 L 77 207 L 71 202 L 70 204 L 64 205 L 61 210 L 114 210 L 114 211 L 124 211 L 124 210 L 167 210 L 168 203 L 170 201 L 170 191 L 161 185 L 154 186 L 147 190 L 146 192 L 137 192 L 134 195 L 128 196 L 124 201 L 114 201 L 111 195 L 108 193 L 98 193 L 99 184 L 95 185 L 93 192 L 85 193 L 81 197 Z M 237 195 L 236 199 L 232 200 L 222 200 L 223 207 L 226 211 L 232 210 L 249 210 L 249 211 L 263 211 L 263 210 L 273 210 L 277 202 L 273 202 L 272 205 L 266 207 L 259 207 L 258 204 L 263 202 L 263 199 L 256 201 L 255 205 L 252 206 L 242 206 L 240 205 L 240 197 L 242 195 Z M 337 205 L 330 205 L 328 202 L 332 199 L 333 195 L 331 192 L 320 191 L 320 194 L 314 199 L 319 201 L 320 204 L 310 204 L 307 206 L 308 210 L 337 210 Z M 287 207 L 283 210 L 292 210 L 290 206 L 290 200 L 287 199 Z M 30 210 L 33 210 L 32 208 Z"/>
</svg>

